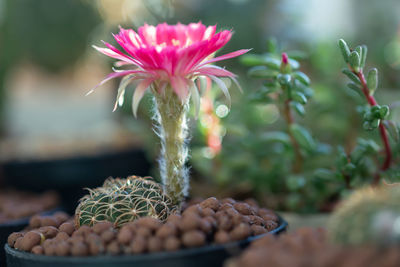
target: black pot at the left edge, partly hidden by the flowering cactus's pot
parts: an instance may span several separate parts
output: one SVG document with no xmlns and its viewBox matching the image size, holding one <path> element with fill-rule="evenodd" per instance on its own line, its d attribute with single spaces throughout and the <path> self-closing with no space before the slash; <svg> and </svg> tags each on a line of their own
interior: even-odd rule
<svg viewBox="0 0 400 267">
<path fill-rule="evenodd" d="M 41 214 L 43 215 L 50 215 L 53 214 L 56 211 L 59 211 L 61 209 L 53 209 L 50 211 L 43 212 Z M 29 219 L 30 217 L 22 218 L 22 219 L 17 219 L 17 220 L 12 220 L 9 222 L 1 223 L 0 224 L 0 244 L 4 245 L 7 243 L 8 236 L 13 233 L 13 232 L 18 232 L 24 229 L 28 224 L 29 224 Z M 4 253 L 4 250 L 0 251 L 0 266 L 5 266 L 6 264 L 6 255 Z"/>
</svg>

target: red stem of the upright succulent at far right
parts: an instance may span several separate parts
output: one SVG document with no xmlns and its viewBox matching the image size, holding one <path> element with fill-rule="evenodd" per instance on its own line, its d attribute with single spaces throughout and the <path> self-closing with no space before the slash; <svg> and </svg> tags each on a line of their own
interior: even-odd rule
<svg viewBox="0 0 400 267">
<path fill-rule="evenodd" d="M 378 103 L 376 102 L 374 96 L 370 95 L 370 93 L 369 93 L 369 88 L 368 88 L 367 82 L 365 80 L 364 73 L 362 71 L 359 71 L 359 72 L 356 72 L 354 70 L 352 70 L 352 71 L 360 79 L 362 92 L 365 95 L 365 97 L 367 98 L 367 101 L 368 101 L 369 105 L 371 107 L 378 105 Z M 385 161 L 384 161 L 384 163 L 383 163 L 383 165 L 381 167 L 381 170 L 385 171 L 390 167 L 390 163 L 392 161 L 392 151 L 391 151 L 391 148 L 390 148 L 389 138 L 388 138 L 388 135 L 386 133 L 386 129 L 383 126 L 382 122 L 379 123 L 379 133 L 381 135 L 381 139 L 382 139 L 383 145 L 385 146 L 386 158 L 385 158 Z M 375 178 L 374 178 L 373 183 L 377 184 L 379 182 L 379 180 L 380 180 L 380 175 L 377 174 L 375 176 Z"/>
</svg>

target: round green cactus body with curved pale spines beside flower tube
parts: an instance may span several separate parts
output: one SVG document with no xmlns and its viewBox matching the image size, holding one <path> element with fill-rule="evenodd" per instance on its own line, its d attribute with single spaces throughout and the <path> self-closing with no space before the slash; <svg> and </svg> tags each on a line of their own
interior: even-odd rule
<svg viewBox="0 0 400 267">
<path fill-rule="evenodd" d="M 120 227 L 145 216 L 163 221 L 173 211 L 172 201 L 161 185 L 147 177 L 108 178 L 102 187 L 88 190 L 75 211 L 78 227 L 101 221 Z"/>
</svg>

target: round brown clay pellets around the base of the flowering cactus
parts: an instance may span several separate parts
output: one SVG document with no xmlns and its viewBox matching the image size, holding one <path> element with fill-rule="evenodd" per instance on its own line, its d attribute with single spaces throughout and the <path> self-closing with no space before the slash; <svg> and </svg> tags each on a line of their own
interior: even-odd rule
<svg viewBox="0 0 400 267">
<path fill-rule="evenodd" d="M 252 201 L 208 198 L 192 202 L 165 222 L 142 217 L 121 228 L 111 222 L 77 228 L 65 213 L 34 216 L 29 226 L 12 233 L 8 244 L 18 250 L 52 256 L 141 254 L 223 244 L 272 231 L 279 218 Z"/>
</svg>

